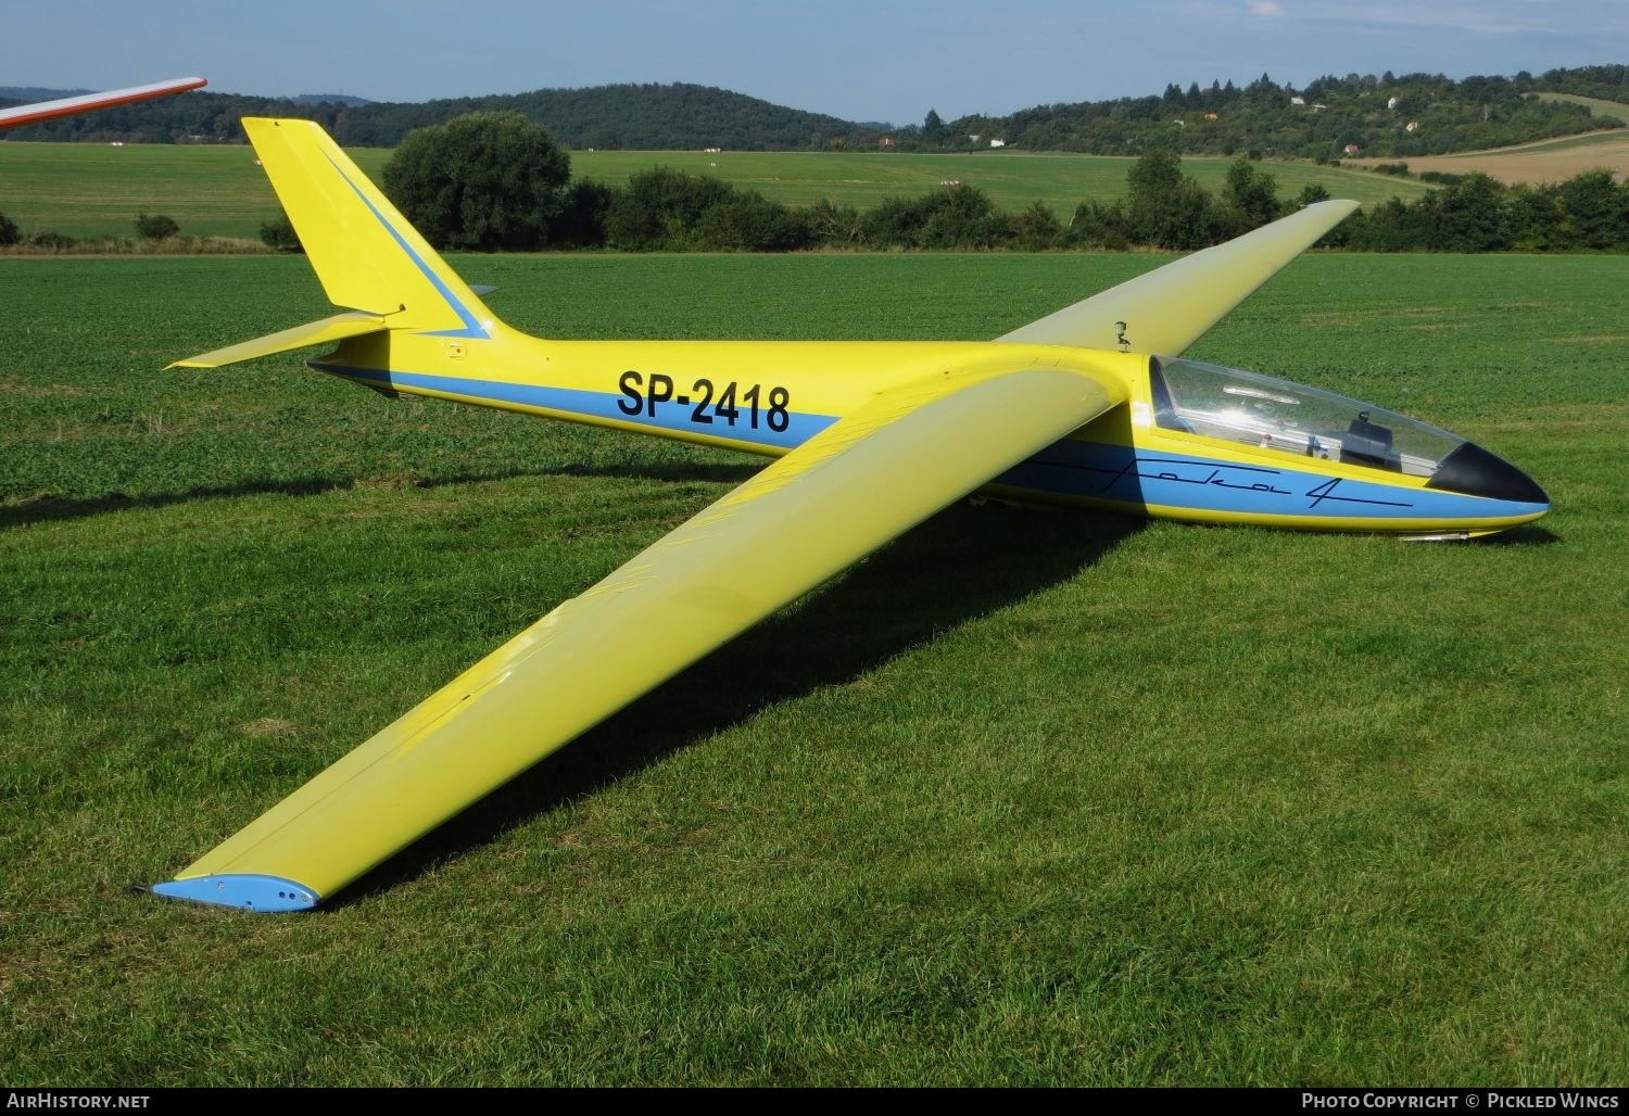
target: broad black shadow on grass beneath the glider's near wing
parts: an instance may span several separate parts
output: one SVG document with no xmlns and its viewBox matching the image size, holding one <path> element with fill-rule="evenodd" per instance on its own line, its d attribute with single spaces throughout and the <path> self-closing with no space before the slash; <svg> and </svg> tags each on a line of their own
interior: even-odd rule
<svg viewBox="0 0 1629 1116">
<path fill-rule="evenodd" d="M 863 676 L 940 632 L 1096 564 L 1139 520 L 963 502 L 740 635 L 466 808 L 324 906 L 487 844 L 759 709 Z"/>
</svg>

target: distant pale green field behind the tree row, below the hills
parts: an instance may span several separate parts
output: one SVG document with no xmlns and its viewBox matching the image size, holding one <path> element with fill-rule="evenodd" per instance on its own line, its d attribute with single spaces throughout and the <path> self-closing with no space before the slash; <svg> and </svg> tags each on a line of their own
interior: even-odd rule
<svg viewBox="0 0 1629 1116">
<path fill-rule="evenodd" d="M 350 152 L 378 181 L 391 152 Z M 959 179 L 987 191 L 999 209 L 1020 210 L 1044 200 L 1069 220 L 1087 199 L 1126 192 L 1129 158 L 1090 155 L 883 155 L 883 153 L 766 153 L 766 152 L 573 152 L 572 171 L 622 184 L 629 174 L 676 166 L 694 174 L 717 174 L 779 202 L 811 205 L 824 197 L 867 209 L 889 196 L 915 197 Z M 1227 160 L 1186 160 L 1189 174 L 1220 192 Z M 1264 163 L 1284 197 L 1308 182 L 1321 182 L 1334 197 L 1365 205 L 1424 192 L 1367 171 L 1311 163 Z M 54 230 L 67 236 L 130 236 L 138 212 L 166 213 L 192 236 L 259 235 L 275 217 L 277 199 L 248 147 L 173 147 L 91 143 L 0 143 L 0 213 L 24 231 Z"/>
</svg>

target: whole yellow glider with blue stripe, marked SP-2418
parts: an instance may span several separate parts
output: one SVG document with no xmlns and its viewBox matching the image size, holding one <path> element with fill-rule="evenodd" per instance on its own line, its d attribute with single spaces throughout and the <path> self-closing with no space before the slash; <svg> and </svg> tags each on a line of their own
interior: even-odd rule
<svg viewBox="0 0 1629 1116">
<path fill-rule="evenodd" d="M 1360 443 L 1359 433 L 1319 438 L 1284 432 L 1282 424 L 1285 445 L 1305 433 L 1319 450 L 1333 445 L 1334 458 L 1262 450 L 1253 428 L 1248 453 L 1238 446 L 1227 453 L 1228 438 L 1215 432 L 1228 415 L 1204 402 L 1210 367 L 1147 355 L 1179 354 L 1344 218 L 1350 202 L 1308 207 L 999 342 L 552 341 L 500 323 L 318 125 L 249 119 L 244 127 L 324 290 L 345 313 L 182 367 L 339 342 L 310 367 L 383 393 L 779 461 L 487 655 L 174 880 L 155 885 L 160 894 L 252 911 L 311 907 L 746 627 L 979 489 L 1142 515 L 1416 534 L 1484 533 L 1543 515 L 1533 499 L 1517 499 L 1533 497 L 1528 490 L 1425 492 L 1466 448 L 1515 471 L 1463 440 L 1447 448 L 1420 440 L 1396 422 L 1411 420 L 1378 409 L 1363 411 L 1363 422 L 1365 430 L 1388 432 L 1385 455 L 1393 445 L 1399 461 L 1437 455 L 1438 468 L 1420 476 L 1417 466 L 1406 472 L 1363 464 L 1362 451 L 1373 456 L 1378 433 Z M 1122 339 L 1144 349 L 1122 352 Z M 1236 376 L 1246 380 L 1227 380 L 1217 398 L 1254 404 L 1276 394 L 1249 373 Z M 1186 409 L 1166 406 L 1171 383 L 1189 393 Z M 1287 399 L 1289 388 L 1295 386 L 1279 388 L 1277 398 Z M 1256 394 L 1228 396 L 1228 389 Z M 1342 406 L 1337 396 L 1315 398 L 1324 394 L 1305 401 Z M 1166 412 L 1189 428 L 1163 425 Z M 1171 443 L 1181 443 L 1186 456 Z M 1303 445 L 1311 443 L 1303 438 Z M 1473 458 L 1469 466 L 1460 463 L 1461 472 L 1482 477 L 1469 487 L 1489 487 L 1482 476 L 1489 471 L 1510 487 L 1497 466 Z M 1161 502 L 1161 486 L 1179 489 L 1188 503 Z M 1391 487 L 1407 494 L 1406 510 L 1373 497 L 1375 489 Z M 1271 505 L 1280 489 L 1297 492 L 1295 507 Z M 1450 508 L 1442 500 L 1468 503 Z M 1404 507 L 1401 497 L 1391 503 Z"/>
</svg>

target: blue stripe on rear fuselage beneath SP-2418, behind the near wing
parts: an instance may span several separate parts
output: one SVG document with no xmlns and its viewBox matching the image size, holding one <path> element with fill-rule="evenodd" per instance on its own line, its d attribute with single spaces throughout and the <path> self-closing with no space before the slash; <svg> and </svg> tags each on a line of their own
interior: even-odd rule
<svg viewBox="0 0 1629 1116">
<path fill-rule="evenodd" d="M 521 407 L 538 407 L 539 411 L 555 411 L 562 414 L 583 415 L 586 419 L 606 419 L 627 422 L 640 427 L 656 427 L 660 430 L 678 430 L 683 433 L 705 435 L 712 438 L 728 438 L 761 446 L 779 446 L 793 450 L 816 433 L 834 424 L 832 415 L 787 412 L 787 428 L 771 430 L 767 412 L 757 415 L 757 428 L 743 409 L 743 417 L 730 425 L 718 415 L 710 415 L 712 422 L 696 422 L 694 404 L 674 399 L 650 404 L 645 401 L 639 414 L 627 414 L 621 402 L 627 396 L 608 391 L 585 391 L 582 388 L 544 388 L 539 384 L 508 383 L 503 380 L 466 380 L 463 376 L 433 376 L 420 371 L 378 371 L 373 368 L 350 368 L 345 365 L 329 365 L 310 362 L 311 368 L 327 371 L 349 380 L 365 380 L 381 388 L 419 388 L 424 391 L 441 391 L 450 396 L 463 396 L 482 402 L 510 402 Z M 655 411 L 655 414 L 652 414 Z"/>
</svg>

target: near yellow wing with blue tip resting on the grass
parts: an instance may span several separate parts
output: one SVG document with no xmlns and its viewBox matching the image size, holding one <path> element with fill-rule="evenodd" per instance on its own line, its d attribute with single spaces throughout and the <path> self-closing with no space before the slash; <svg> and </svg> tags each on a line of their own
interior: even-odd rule
<svg viewBox="0 0 1629 1116">
<path fill-rule="evenodd" d="M 870 551 L 1122 402 L 1010 360 L 878 394 L 155 885 L 303 909 Z"/>
</svg>

